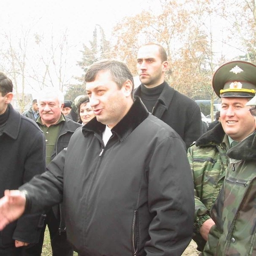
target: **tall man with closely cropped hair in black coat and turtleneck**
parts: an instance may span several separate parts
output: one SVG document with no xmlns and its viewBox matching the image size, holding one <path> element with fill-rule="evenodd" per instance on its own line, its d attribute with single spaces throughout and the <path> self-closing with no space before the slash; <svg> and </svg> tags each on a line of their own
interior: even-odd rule
<svg viewBox="0 0 256 256">
<path fill-rule="evenodd" d="M 187 148 L 202 134 L 201 110 L 196 102 L 164 81 L 169 69 L 167 54 L 158 44 L 146 44 L 137 54 L 141 85 L 135 90 L 149 112 L 170 125 Z"/>
</svg>

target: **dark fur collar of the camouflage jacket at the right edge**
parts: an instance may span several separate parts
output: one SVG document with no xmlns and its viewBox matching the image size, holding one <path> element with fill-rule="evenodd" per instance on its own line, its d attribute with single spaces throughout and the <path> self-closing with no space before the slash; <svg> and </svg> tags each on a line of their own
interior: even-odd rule
<svg viewBox="0 0 256 256">
<path fill-rule="evenodd" d="M 238 160 L 256 160 L 256 132 L 230 148 L 227 152 L 230 158 Z"/>
</svg>

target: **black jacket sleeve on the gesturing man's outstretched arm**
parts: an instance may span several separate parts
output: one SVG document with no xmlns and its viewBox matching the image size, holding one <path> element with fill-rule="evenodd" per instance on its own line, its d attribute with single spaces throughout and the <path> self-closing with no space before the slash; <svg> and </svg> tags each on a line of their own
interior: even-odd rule
<svg viewBox="0 0 256 256">
<path fill-rule="evenodd" d="M 67 149 L 63 149 L 47 166 L 47 171 L 37 175 L 19 190 L 26 194 L 25 213 L 38 213 L 49 210 L 62 202 L 63 171 Z"/>
</svg>

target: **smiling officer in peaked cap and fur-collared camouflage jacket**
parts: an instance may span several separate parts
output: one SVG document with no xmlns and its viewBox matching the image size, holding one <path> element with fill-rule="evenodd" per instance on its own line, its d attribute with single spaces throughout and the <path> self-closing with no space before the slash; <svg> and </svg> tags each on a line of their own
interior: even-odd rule
<svg viewBox="0 0 256 256">
<path fill-rule="evenodd" d="M 194 240 L 199 251 L 203 251 L 215 224 L 210 210 L 225 179 L 229 163 L 227 151 L 255 130 L 254 118 L 246 103 L 255 95 L 256 66 L 246 61 L 225 63 L 215 72 L 212 85 L 221 98 L 220 123 L 188 149 L 194 176 Z"/>
</svg>

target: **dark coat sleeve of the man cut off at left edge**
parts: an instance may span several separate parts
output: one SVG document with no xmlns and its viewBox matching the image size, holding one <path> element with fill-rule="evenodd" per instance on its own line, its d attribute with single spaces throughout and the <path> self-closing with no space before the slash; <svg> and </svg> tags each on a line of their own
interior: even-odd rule
<svg viewBox="0 0 256 256">
<path fill-rule="evenodd" d="M 45 171 L 45 138 L 41 130 L 31 134 L 33 140 L 24 164 L 23 183 L 28 182 L 36 174 Z M 44 214 L 23 215 L 17 221 L 12 238 L 14 240 L 37 243 L 43 226 Z"/>
</svg>

